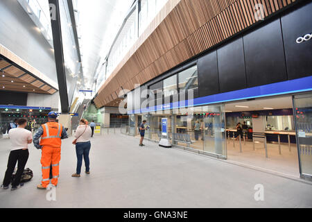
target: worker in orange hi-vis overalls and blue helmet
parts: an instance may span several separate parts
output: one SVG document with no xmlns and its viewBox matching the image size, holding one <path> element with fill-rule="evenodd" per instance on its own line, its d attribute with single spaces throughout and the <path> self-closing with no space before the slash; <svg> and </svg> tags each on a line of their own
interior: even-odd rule
<svg viewBox="0 0 312 222">
<path fill-rule="evenodd" d="M 37 186 L 38 189 L 46 189 L 49 186 L 51 165 L 53 174 L 51 184 L 55 187 L 58 185 L 62 139 L 67 139 L 68 134 L 65 128 L 56 122 L 57 117 L 57 113 L 50 112 L 49 122 L 42 125 L 33 137 L 35 147 L 42 150 L 42 183 Z"/>
</svg>

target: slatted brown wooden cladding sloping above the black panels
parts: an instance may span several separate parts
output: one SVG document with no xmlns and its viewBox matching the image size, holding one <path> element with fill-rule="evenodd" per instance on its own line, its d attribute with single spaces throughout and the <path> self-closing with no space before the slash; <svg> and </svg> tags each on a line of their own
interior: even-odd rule
<svg viewBox="0 0 312 222">
<path fill-rule="evenodd" d="M 256 4 L 268 17 L 295 1 L 300 0 L 169 0 L 159 12 L 164 19 L 150 24 L 94 102 L 98 107 L 111 104 L 122 89 L 132 90 L 257 23 Z"/>
</svg>

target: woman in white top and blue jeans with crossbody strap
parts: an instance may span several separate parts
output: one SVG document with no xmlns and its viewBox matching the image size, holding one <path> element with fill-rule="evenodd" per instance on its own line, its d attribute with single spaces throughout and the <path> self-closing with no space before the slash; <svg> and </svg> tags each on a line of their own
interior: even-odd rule
<svg viewBox="0 0 312 222">
<path fill-rule="evenodd" d="M 77 169 L 76 173 L 72 175 L 74 178 L 80 178 L 81 166 L 83 165 L 83 159 L 85 160 L 85 173 L 90 174 L 90 161 L 89 152 L 91 148 L 92 130 L 87 125 L 87 120 L 81 119 L 79 126 L 76 130 L 76 155 L 77 155 Z"/>
</svg>

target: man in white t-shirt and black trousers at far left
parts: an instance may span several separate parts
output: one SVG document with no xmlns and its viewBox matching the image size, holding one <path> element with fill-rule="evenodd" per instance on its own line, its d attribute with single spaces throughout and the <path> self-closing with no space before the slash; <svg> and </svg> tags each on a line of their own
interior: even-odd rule
<svg viewBox="0 0 312 222">
<path fill-rule="evenodd" d="M 15 174 L 15 180 L 12 182 L 12 189 L 15 190 L 23 187 L 24 184 L 20 183 L 21 175 L 24 172 L 29 152 L 28 144 L 33 142 L 33 135 L 31 131 L 25 129 L 27 125 L 26 119 L 19 119 L 17 121 L 17 128 L 12 128 L 9 131 L 10 142 L 12 144 L 10 156 L 8 158 L 8 169 L 6 170 L 6 176 L 4 176 L 1 189 L 8 189 L 12 173 L 14 172 L 15 165 L 17 164 L 17 172 Z"/>
</svg>

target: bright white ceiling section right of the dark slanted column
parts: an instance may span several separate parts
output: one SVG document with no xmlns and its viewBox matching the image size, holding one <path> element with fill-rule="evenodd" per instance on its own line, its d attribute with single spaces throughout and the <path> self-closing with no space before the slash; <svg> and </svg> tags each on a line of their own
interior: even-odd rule
<svg viewBox="0 0 312 222">
<path fill-rule="evenodd" d="M 134 0 L 77 0 L 74 4 L 85 83 L 105 58 Z"/>
</svg>

